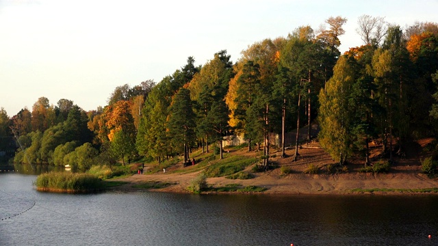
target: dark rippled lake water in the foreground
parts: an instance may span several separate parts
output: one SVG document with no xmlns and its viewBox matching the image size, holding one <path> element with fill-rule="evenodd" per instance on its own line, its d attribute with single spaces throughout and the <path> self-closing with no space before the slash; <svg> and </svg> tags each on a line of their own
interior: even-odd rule
<svg viewBox="0 0 438 246">
<path fill-rule="evenodd" d="M 73 195 L 35 179 L 0 172 L 0 245 L 438 245 L 438 195 Z"/>
</svg>

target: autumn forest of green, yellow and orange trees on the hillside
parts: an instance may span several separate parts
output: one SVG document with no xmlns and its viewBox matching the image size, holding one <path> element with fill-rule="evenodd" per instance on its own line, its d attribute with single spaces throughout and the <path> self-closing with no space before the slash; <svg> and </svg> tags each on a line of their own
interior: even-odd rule
<svg viewBox="0 0 438 246">
<path fill-rule="evenodd" d="M 341 54 L 346 21 L 330 17 L 318 30 L 302 26 L 255 42 L 235 63 L 226 50 L 203 66 L 188 57 L 159 83 L 116 87 L 96 110 L 44 96 L 12 118 L 1 108 L 0 159 L 77 169 L 175 156 L 185 162 L 191 148 L 214 146 L 222 158 L 223 137 L 240 135 L 248 151 L 263 151 L 267 166 L 271 133 L 307 127 L 305 140 L 281 137 L 282 156 L 294 146 L 297 157 L 302 141 L 317 139 L 340 165 L 351 156 L 368 165 L 368 143 L 382 141 L 391 161 L 409 142 L 437 134 L 438 24 L 400 27 L 363 15 L 363 43 Z"/>
</svg>

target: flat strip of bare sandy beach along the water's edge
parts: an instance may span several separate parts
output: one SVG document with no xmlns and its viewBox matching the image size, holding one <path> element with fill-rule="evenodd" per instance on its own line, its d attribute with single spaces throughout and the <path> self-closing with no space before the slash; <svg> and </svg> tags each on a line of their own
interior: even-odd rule
<svg viewBox="0 0 438 246">
<path fill-rule="evenodd" d="M 275 171 L 275 170 L 273 170 Z M 190 193 L 186 188 L 198 172 L 189 174 L 134 174 L 127 178 L 111 181 L 123 181 L 114 190 L 153 191 L 167 193 Z M 133 188 L 145 182 L 168 182 L 168 187 L 161 189 Z M 438 195 L 438 179 L 428 178 L 421 173 L 388 174 L 287 174 L 276 175 L 274 172 L 256 174 L 248 180 L 231 180 L 224 177 L 207 178 L 210 187 L 225 187 L 227 184 L 240 184 L 242 187 L 257 186 L 266 188 L 262 192 L 240 191 L 204 191 L 202 194 L 252 194 L 252 195 Z M 355 191 L 359 189 L 359 191 Z"/>
</svg>

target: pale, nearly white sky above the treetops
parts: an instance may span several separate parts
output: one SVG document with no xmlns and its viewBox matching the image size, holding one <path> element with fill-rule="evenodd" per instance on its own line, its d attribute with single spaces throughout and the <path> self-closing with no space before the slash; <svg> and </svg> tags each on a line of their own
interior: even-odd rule
<svg viewBox="0 0 438 246">
<path fill-rule="evenodd" d="M 44 96 L 89 111 L 117 86 L 159 83 L 190 56 L 197 66 L 227 50 L 235 62 L 255 42 L 318 30 L 330 16 L 348 19 L 344 52 L 363 44 L 363 14 L 406 27 L 438 23 L 437 10 L 438 0 L 0 0 L 0 109 L 12 117 Z"/>
</svg>

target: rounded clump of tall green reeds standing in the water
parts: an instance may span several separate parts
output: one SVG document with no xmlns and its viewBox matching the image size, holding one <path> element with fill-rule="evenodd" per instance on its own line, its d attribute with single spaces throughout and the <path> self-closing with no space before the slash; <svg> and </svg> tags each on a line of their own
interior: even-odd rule
<svg viewBox="0 0 438 246">
<path fill-rule="evenodd" d="M 92 174 L 49 172 L 40 174 L 34 182 L 38 191 L 86 193 L 103 189 L 102 181 Z"/>
</svg>

